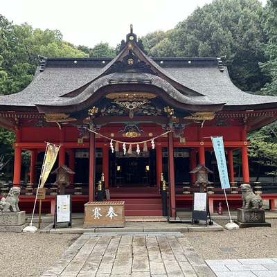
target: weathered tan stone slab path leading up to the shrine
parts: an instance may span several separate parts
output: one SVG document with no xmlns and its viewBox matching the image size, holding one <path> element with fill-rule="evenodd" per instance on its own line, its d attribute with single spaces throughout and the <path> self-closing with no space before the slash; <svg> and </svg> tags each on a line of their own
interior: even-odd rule
<svg viewBox="0 0 277 277">
<path fill-rule="evenodd" d="M 84 234 L 43 275 L 215 276 L 181 233 Z"/>
</svg>

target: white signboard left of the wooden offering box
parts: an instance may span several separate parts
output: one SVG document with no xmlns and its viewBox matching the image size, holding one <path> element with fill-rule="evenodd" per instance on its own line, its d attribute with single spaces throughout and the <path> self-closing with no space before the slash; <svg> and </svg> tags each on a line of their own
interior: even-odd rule
<svg viewBox="0 0 277 277">
<path fill-rule="evenodd" d="M 56 222 L 71 222 L 71 195 L 56 195 Z"/>
</svg>

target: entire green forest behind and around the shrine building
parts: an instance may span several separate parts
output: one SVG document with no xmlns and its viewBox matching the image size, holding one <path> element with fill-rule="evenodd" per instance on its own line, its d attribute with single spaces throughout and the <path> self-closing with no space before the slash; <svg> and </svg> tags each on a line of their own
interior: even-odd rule
<svg viewBox="0 0 277 277">
<path fill-rule="evenodd" d="M 142 40 L 150 57 L 222 57 L 232 82 L 247 93 L 277 96 L 277 0 L 214 0 L 197 8 L 171 30 L 148 33 Z M 0 95 L 17 93 L 33 80 L 44 57 L 115 57 L 116 48 L 100 42 L 93 48 L 65 42 L 59 30 L 15 25 L 0 14 Z M 224 92 L 222 92 L 224 93 Z M 277 123 L 248 139 L 250 170 L 277 175 Z M 0 170 L 12 162 L 15 134 L 0 128 Z M 30 156 L 23 153 L 28 166 Z M 9 162 L 8 162 L 9 161 Z M 235 166 L 240 167 L 239 153 Z M 267 168 L 261 172 L 261 168 Z M 9 178 L 9 176 L 5 176 Z"/>
</svg>

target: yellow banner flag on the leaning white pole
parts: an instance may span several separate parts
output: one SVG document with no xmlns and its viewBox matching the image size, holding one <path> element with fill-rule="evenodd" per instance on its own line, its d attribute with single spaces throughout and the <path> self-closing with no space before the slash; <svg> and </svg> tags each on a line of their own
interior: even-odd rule
<svg viewBox="0 0 277 277">
<path fill-rule="evenodd" d="M 60 146 L 48 144 L 46 154 L 44 157 L 44 164 L 42 166 L 42 175 L 40 176 L 39 188 L 42 188 L 48 178 L 48 175 L 53 168 L 55 160 L 57 159 L 57 153 L 60 150 Z"/>
</svg>

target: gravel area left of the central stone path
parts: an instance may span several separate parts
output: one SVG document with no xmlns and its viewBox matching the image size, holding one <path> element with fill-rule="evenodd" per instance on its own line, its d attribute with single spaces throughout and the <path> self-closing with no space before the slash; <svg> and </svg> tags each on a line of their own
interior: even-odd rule
<svg viewBox="0 0 277 277">
<path fill-rule="evenodd" d="M 1 232 L 0 276 L 39 277 L 79 237 L 73 234 Z"/>
</svg>

